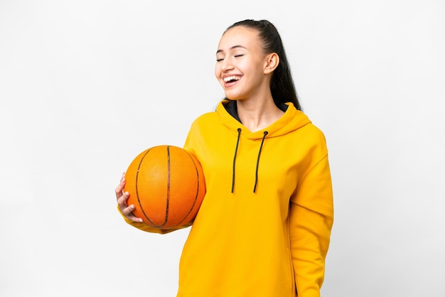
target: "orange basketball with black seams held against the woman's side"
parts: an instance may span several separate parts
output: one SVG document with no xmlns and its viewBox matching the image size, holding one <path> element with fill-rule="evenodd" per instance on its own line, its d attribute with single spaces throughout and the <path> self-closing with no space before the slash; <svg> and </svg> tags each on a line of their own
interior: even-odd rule
<svg viewBox="0 0 445 297">
<path fill-rule="evenodd" d="M 124 190 L 133 214 L 152 227 L 172 229 L 191 222 L 205 195 L 203 169 L 177 146 L 154 146 L 139 153 L 125 173 Z"/>
</svg>

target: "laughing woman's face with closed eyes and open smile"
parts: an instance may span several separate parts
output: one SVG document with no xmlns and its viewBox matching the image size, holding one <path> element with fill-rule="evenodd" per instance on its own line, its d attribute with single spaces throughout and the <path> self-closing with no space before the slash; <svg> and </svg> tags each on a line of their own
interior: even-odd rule
<svg viewBox="0 0 445 297">
<path fill-rule="evenodd" d="M 266 55 L 258 31 L 237 26 L 221 37 L 216 52 L 215 76 L 228 99 L 248 99 L 261 95 L 269 81 L 264 75 Z"/>
</svg>

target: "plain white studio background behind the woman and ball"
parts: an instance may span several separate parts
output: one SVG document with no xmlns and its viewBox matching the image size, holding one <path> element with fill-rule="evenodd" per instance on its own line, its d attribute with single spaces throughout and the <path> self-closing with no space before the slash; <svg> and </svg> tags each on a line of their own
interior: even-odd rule
<svg viewBox="0 0 445 297">
<path fill-rule="evenodd" d="M 0 296 L 175 296 L 188 229 L 126 225 L 114 188 L 223 98 L 215 50 L 245 18 L 277 26 L 328 141 L 322 295 L 445 296 L 444 16 L 440 0 L 0 0 Z"/>
</svg>

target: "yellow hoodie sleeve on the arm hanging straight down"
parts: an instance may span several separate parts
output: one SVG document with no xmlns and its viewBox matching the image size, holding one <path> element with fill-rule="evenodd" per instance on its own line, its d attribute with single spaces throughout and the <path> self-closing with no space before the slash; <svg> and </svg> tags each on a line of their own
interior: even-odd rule
<svg viewBox="0 0 445 297">
<path fill-rule="evenodd" d="M 319 297 L 333 225 L 333 192 L 328 155 L 299 183 L 291 199 L 289 233 L 299 297 Z"/>
</svg>

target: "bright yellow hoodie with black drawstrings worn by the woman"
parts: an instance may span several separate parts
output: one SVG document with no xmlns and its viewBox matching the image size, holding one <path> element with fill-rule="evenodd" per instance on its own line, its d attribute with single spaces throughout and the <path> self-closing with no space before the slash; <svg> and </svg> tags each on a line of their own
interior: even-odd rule
<svg viewBox="0 0 445 297">
<path fill-rule="evenodd" d="M 323 133 L 291 103 L 255 132 L 225 104 L 193 122 L 184 146 L 207 193 L 183 247 L 178 297 L 318 297 L 333 224 Z"/>
</svg>

